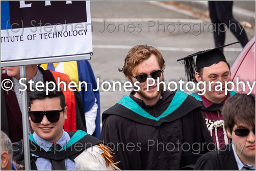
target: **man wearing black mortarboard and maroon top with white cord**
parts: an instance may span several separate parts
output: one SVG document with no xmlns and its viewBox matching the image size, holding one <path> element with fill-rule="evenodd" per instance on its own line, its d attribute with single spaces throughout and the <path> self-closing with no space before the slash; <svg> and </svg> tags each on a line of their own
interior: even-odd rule
<svg viewBox="0 0 256 171">
<path fill-rule="evenodd" d="M 199 92 L 201 95 L 196 93 L 191 94 L 191 96 L 194 96 L 202 104 L 202 116 L 218 150 L 228 144 L 228 137 L 225 129 L 223 129 L 224 121 L 220 109 L 225 101 L 235 94 L 235 92 L 231 91 L 225 95 L 225 82 L 231 80 L 231 72 L 230 66 L 220 49 L 235 43 L 199 51 L 177 60 L 183 61 L 188 81 L 205 82 L 204 93 Z M 194 62 L 195 56 L 197 56 L 196 64 Z M 217 81 L 222 83 L 221 91 L 216 91 L 219 89 L 215 89 L 216 86 L 220 86 L 220 83 Z M 200 84 L 200 90 L 202 89 L 202 84 Z"/>
</svg>

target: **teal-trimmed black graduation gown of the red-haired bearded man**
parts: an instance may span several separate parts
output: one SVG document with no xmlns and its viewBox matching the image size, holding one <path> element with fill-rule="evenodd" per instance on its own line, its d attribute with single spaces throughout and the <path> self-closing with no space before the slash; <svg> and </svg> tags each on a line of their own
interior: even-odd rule
<svg viewBox="0 0 256 171">
<path fill-rule="evenodd" d="M 166 91 L 156 105 L 149 107 L 133 95 L 130 97 L 124 96 L 103 112 L 101 139 L 113 149 L 114 162 L 120 161 L 117 164 L 120 169 L 177 170 L 196 162 L 198 157 L 191 157 L 193 152 L 206 153 L 206 145 L 213 145 L 200 115 L 201 105 L 193 97 L 181 91 Z M 194 143 L 193 149 L 185 145 L 184 151 L 178 142 L 191 147 Z M 167 148 L 168 143 L 175 147 Z M 199 148 L 199 143 L 206 144 Z"/>
</svg>

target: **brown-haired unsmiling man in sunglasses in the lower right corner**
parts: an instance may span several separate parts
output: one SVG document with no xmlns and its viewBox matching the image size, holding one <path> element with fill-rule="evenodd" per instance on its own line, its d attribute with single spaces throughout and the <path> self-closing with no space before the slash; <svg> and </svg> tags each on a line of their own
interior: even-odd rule
<svg viewBox="0 0 256 171">
<path fill-rule="evenodd" d="M 255 170 L 255 95 L 236 94 L 222 108 L 232 143 L 200 157 L 196 170 Z"/>
</svg>

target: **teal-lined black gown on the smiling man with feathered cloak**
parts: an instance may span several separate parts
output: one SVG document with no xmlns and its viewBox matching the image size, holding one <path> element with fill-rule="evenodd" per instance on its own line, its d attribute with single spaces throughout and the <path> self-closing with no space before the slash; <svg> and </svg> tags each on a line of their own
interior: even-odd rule
<svg viewBox="0 0 256 171">
<path fill-rule="evenodd" d="M 66 149 L 63 149 L 60 152 L 53 152 L 53 151 L 48 151 L 45 152 L 40 146 L 38 146 L 35 143 L 35 140 L 33 140 L 33 134 L 30 135 L 29 139 L 29 145 L 30 145 L 30 163 L 31 163 L 31 170 L 37 170 L 36 166 L 36 160 L 37 157 L 32 156 L 32 153 L 44 157 L 47 159 L 53 159 L 53 160 L 63 160 L 66 158 L 71 159 L 74 161 L 75 157 L 80 155 L 85 149 L 88 149 L 94 145 L 103 143 L 98 138 L 95 138 L 92 135 L 89 135 L 88 133 L 78 130 L 78 131 L 71 131 L 68 132 L 66 131 L 69 136 L 70 140 L 67 142 L 67 145 L 71 145 L 67 147 Z M 13 143 L 13 160 L 17 164 L 24 165 L 24 153 L 23 153 L 23 139 L 18 141 L 17 143 Z"/>
</svg>

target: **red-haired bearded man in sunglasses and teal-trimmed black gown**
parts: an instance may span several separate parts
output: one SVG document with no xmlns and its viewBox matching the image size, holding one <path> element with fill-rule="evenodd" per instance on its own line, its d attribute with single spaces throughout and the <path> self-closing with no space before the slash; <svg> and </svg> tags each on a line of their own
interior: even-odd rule
<svg viewBox="0 0 256 171">
<path fill-rule="evenodd" d="M 131 48 L 119 69 L 135 91 L 103 112 L 101 139 L 120 169 L 178 170 L 212 148 L 198 101 L 182 91 L 158 91 L 157 84 L 147 91 L 147 78 L 163 81 L 164 69 L 161 52 L 147 45 Z"/>
</svg>

